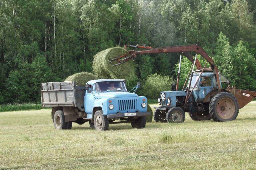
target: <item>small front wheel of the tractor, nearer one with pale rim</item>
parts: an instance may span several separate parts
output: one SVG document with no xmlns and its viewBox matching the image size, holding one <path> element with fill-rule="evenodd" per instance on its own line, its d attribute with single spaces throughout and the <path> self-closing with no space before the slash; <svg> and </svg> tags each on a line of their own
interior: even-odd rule
<svg viewBox="0 0 256 170">
<path fill-rule="evenodd" d="M 185 112 L 179 107 L 173 107 L 168 110 L 166 120 L 169 123 L 183 123 L 185 121 Z"/>
</svg>

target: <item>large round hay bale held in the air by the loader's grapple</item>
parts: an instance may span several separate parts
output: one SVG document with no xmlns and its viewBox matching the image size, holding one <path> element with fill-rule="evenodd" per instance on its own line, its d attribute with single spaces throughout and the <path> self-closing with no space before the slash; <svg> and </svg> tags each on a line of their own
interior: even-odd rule
<svg viewBox="0 0 256 170">
<path fill-rule="evenodd" d="M 93 59 L 93 73 L 97 78 L 133 79 L 135 76 L 133 61 L 129 60 L 118 66 L 117 61 L 109 60 L 125 54 L 127 51 L 121 47 L 108 48 L 98 52 Z"/>
</svg>

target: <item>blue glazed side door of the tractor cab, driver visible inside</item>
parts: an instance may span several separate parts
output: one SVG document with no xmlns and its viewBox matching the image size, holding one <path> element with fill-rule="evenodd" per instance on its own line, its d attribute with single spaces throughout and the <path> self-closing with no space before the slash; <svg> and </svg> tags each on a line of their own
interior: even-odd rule
<svg viewBox="0 0 256 170">
<path fill-rule="evenodd" d="M 201 76 L 200 86 L 198 90 L 198 100 L 197 102 L 203 101 L 205 96 L 213 89 L 213 79 L 212 76 Z"/>
</svg>

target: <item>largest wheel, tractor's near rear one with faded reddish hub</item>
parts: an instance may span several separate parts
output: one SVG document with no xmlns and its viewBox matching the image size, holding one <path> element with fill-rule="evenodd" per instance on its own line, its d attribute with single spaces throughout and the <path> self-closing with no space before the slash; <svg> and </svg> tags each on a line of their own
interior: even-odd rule
<svg viewBox="0 0 256 170">
<path fill-rule="evenodd" d="M 212 98 L 209 112 L 216 122 L 235 120 L 239 112 L 238 102 L 232 94 L 220 92 Z"/>
</svg>

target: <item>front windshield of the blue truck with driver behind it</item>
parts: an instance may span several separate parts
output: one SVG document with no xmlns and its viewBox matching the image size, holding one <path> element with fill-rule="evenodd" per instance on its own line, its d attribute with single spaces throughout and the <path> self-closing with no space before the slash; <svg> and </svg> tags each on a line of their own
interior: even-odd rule
<svg viewBox="0 0 256 170">
<path fill-rule="evenodd" d="M 127 91 L 123 81 L 105 81 L 95 83 L 96 92 Z"/>
</svg>

